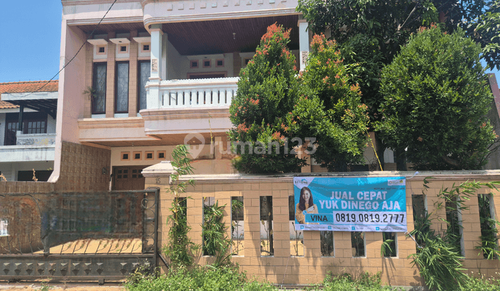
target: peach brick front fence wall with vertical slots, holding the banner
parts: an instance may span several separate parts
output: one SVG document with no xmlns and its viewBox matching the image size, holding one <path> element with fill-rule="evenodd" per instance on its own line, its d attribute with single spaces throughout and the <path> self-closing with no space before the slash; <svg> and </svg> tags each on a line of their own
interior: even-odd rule
<svg viewBox="0 0 500 291">
<path fill-rule="evenodd" d="M 303 174 L 307 175 L 307 174 Z M 328 173 L 331 177 L 349 177 L 337 173 Z M 500 171 L 475 171 L 475 172 L 433 172 L 415 173 L 409 172 L 371 172 L 371 173 L 349 173 L 352 177 L 366 175 L 369 177 L 387 177 L 404 175 L 406 180 L 406 209 L 408 231 L 414 228 L 412 217 L 412 194 L 422 194 L 424 191 L 424 177 L 433 176 L 433 182 L 428 184 L 426 190 L 426 201 L 428 211 L 437 211 L 434 207 L 438 201 L 437 193 L 442 187 L 451 187 L 468 179 L 481 182 L 499 180 Z M 366 177 L 365 176 L 365 177 Z M 192 178 L 196 186 L 189 187 L 187 193 L 182 193 L 188 199 L 188 224 L 192 227 L 189 235 L 193 243 L 201 244 L 201 223 L 203 197 L 215 197 L 219 205 L 230 205 L 231 197 L 242 196 L 244 199 L 244 246 L 243 256 L 233 256 L 232 261 L 238 263 L 241 270 L 246 271 L 248 276 L 258 276 L 272 283 L 284 284 L 310 284 L 318 283 L 324 279 L 328 272 L 333 274 L 350 273 L 358 276 L 362 272 L 375 274 L 381 272 L 384 283 L 390 285 L 419 286 L 423 281 L 419 276 L 416 266 L 412 266 L 410 254 L 415 254 L 416 246 L 411 238 L 404 233 L 397 233 L 397 257 L 382 258 L 381 244 L 382 233 L 365 233 L 366 256 L 353 258 L 351 248 L 351 233 L 335 231 L 334 246 L 335 257 L 322 257 L 320 248 L 319 231 L 304 231 L 303 244 L 304 256 L 290 256 L 290 222 L 288 218 L 288 197 L 293 195 L 292 175 L 281 176 L 251 176 L 251 175 L 194 175 L 185 177 L 183 180 Z M 167 233 L 169 226 L 165 223 L 169 215 L 169 206 L 172 203 L 172 195 L 165 192 L 167 188 L 167 177 L 147 177 L 146 187 L 160 188 L 160 241 L 159 245 L 168 243 Z M 478 193 L 491 193 L 489 188 L 481 188 Z M 494 196 L 494 204 L 500 205 L 500 196 L 497 191 Z M 260 216 L 259 197 L 272 195 L 274 213 L 274 256 L 260 256 Z M 500 262 L 487 261 L 483 254 L 474 249 L 480 240 L 481 226 L 478 214 L 478 200 L 472 197 L 465 202 L 469 209 L 462 211 L 463 240 L 465 246 L 464 265 L 467 272 L 484 274 L 485 276 L 499 276 Z M 230 210 L 226 206 L 224 222 L 230 224 Z M 495 207 L 495 215 L 499 217 L 500 211 Z M 443 215 L 443 211 L 437 211 Z M 435 221 L 433 229 L 440 231 L 444 223 Z M 228 229 L 231 229 L 229 227 Z M 229 230 L 227 235 L 231 236 Z M 213 261 L 209 256 L 197 258 L 197 263 L 206 264 Z"/>
</svg>

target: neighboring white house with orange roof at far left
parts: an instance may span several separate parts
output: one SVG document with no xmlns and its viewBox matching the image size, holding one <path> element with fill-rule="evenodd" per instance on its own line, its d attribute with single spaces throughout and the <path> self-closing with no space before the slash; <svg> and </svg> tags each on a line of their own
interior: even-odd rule
<svg viewBox="0 0 500 291">
<path fill-rule="evenodd" d="M 0 173 L 8 181 L 33 181 L 33 170 L 47 181 L 52 173 L 58 81 L 46 83 L 0 83 Z"/>
</svg>

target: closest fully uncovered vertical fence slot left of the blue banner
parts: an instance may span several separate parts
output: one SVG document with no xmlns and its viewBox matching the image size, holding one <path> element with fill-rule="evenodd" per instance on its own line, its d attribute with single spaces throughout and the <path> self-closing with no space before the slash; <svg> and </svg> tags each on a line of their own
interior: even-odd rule
<svg viewBox="0 0 500 291">
<path fill-rule="evenodd" d="M 260 256 L 274 256 L 272 196 L 260 196 Z"/>
</svg>

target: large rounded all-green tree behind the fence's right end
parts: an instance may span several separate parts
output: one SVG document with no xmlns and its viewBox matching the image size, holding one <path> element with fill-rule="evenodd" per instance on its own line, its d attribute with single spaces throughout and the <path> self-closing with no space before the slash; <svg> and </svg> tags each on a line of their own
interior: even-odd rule
<svg viewBox="0 0 500 291">
<path fill-rule="evenodd" d="M 385 144 L 418 170 L 478 169 L 496 138 L 481 46 L 462 30 L 422 28 L 382 72 Z"/>
</svg>

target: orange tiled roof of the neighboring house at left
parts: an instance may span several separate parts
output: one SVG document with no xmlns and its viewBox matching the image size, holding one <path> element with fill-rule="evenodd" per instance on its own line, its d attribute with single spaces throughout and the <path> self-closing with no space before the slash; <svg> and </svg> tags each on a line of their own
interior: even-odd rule
<svg viewBox="0 0 500 291">
<path fill-rule="evenodd" d="M 0 83 L 0 99 L 3 93 L 30 93 L 34 91 L 40 92 L 56 92 L 59 89 L 59 80 L 47 81 L 29 81 L 29 82 L 7 82 Z M 43 87 L 42 87 L 43 86 Z M 42 89 L 40 89 L 42 87 Z M 40 89 L 40 90 L 39 90 Z M 0 100 L 0 109 L 18 108 L 18 105 Z"/>
</svg>

